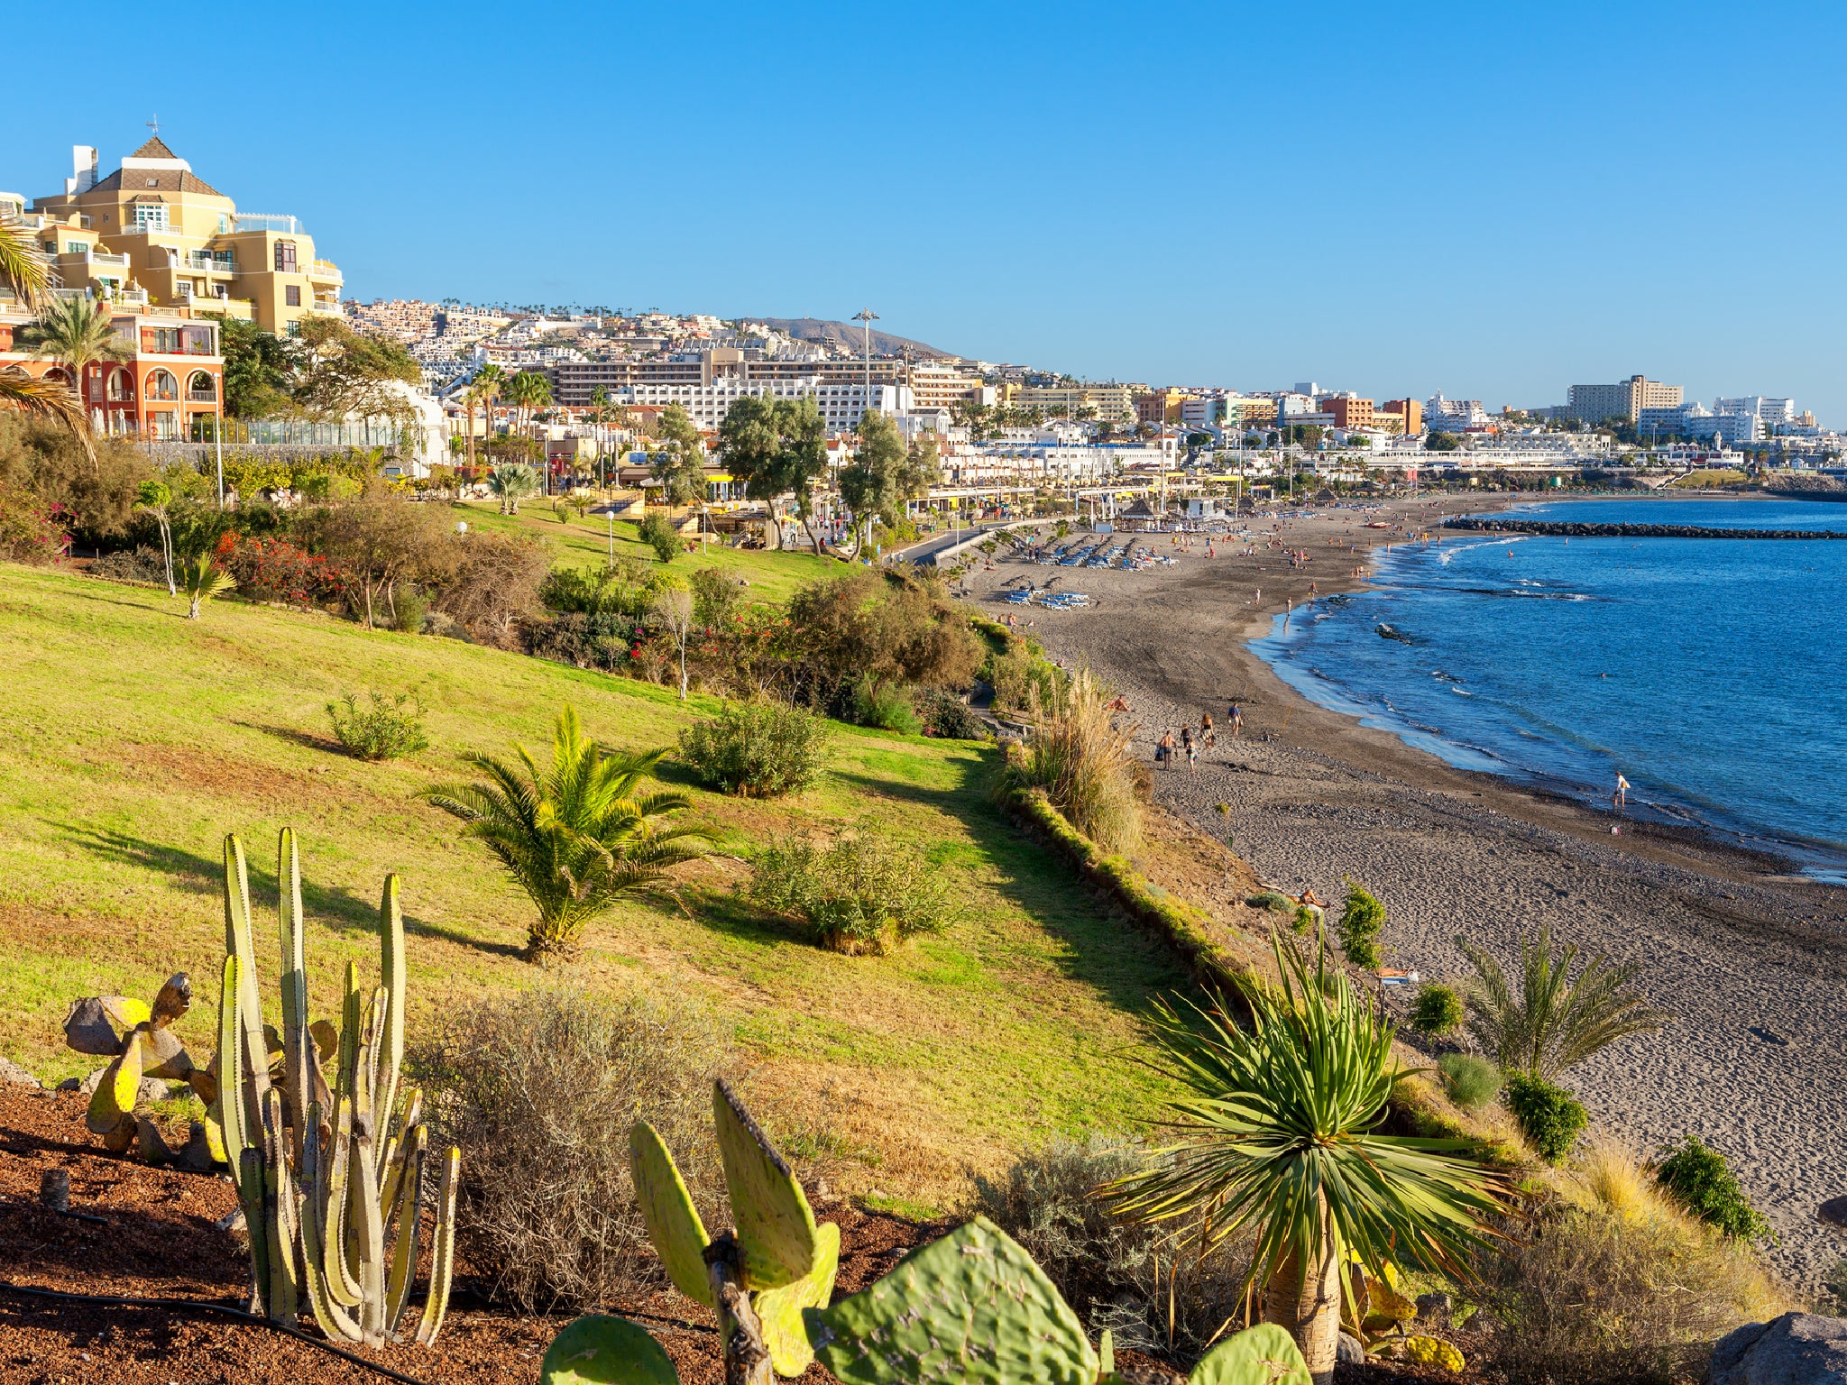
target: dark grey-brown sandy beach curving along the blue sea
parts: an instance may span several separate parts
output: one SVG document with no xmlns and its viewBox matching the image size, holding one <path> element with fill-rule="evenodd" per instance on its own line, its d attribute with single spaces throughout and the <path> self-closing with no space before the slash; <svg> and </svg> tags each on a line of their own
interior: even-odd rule
<svg viewBox="0 0 1847 1385">
<path fill-rule="evenodd" d="M 1607 813 L 1450 768 L 1310 704 L 1245 648 L 1286 602 L 1310 600 L 1310 584 L 1321 596 L 1363 585 L 1354 569 L 1365 550 L 1494 504 L 1455 497 L 1365 515 L 1326 506 L 1317 519 L 1260 515 L 1249 523 L 1256 556 L 1234 539 L 1206 558 L 1202 536 L 1182 552 L 1158 534 L 1143 541 L 1177 565 L 1121 572 L 1001 560 L 970 572 L 968 587 L 996 617 L 1031 615 L 1047 652 L 1088 663 L 1123 692 L 1149 761 L 1164 728 L 1178 733 L 1210 711 L 1217 748 L 1193 768 L 1156 768 L 1156 801 L 1213 835 L 1228 822 L 1237 853 L 1276 886 L 1339 899 L 1345 877 L 1361 879 L 1389 910 L 1383 940 L 1396 966 L 1454 977 L 1465 966 L 1455 934 L 1511 957 L 1540 923 L 1588 953 L 1640 962 L 1640 986 L 1673 1021 L 1607 1049 L 1566 1084 L 1636 1150 L 1686 1132 L 1723 1149 L 1775 1226 L 1771 1263 L 1814 1291 L 1847 1256 L 1847 1234 L 1816 1217 L 1847 1193 L 1847 890 L 1684 829 L 1631 820 L 1612 837 Z M 1310 554 L 1304 567 L 1263 547 L 1278 524 L 1284 547 Z M 1047 578 L 1095 606 L 1056 613 L 997 596 L 1010 582 Z M 1232 700 L 1243 709 L 1239 741 L 1225 728 Z"/>
</svg>

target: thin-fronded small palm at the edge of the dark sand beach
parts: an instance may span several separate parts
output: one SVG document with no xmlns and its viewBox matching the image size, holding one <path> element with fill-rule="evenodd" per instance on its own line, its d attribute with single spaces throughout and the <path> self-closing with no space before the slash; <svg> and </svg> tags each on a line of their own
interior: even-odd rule
<svg viewBox="0 0 1847 1385">
<path fill-rule="evenodd" d="M 1572 981 L 1577 944 L 1553 953 L 1550 923 L 1537 940 L 1520 938 L 1518 995 L 1491 953 L 1467 938 L 1455 945 L 1476 970 L 1463 982 L 1468 1032 L 1502 1071 L 1550 1082 L 1598 1049 L 1629 1034 L 1651 1034 L 1670 1018 L 1629 990 L 1638 962 L 1611 966 L 1598 953 Z"/>
</svg>

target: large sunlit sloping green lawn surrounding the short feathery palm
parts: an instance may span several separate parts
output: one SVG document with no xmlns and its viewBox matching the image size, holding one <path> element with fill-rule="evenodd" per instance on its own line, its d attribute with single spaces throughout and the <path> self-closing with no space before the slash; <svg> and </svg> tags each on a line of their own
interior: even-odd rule
<svg viewBox="0 0 1847 1385">
<path fill-rule="evenodd" d="M 990 807 L 992 750 L 839 728 L 829 774 L 800 798 L 696 790 L 733 855 L 822 824 L 918 844 L 964 905 L 948 933 L 883 958 L 826 953 L 744 907 L 742 866 L 720 861 L 689 872 L 678 903 L 634 901 L 591 925 L 582 958 L 543 973 L 517 957 L 525 896 L 412 792 L 456 777 L 460 750 L 539 748 L 565 702 L 637 748 L 672 742 L 711 700 L 325 615 L 235 602 L 183 615 L 164 593 L 0 565 L 0 1053 L 39 1075 L 92 1064 L 61 1043 L 72 997 L 151 999 L 181 970 L 198 995 L 181 1032 L 203 1060 L 223 833 L 249 851 L 268 953 L 275 833 L 292 824 L 318 1014 L 345 958 L 377 968 L 377 896 L 395 870 L 414 1029 L 547 979 L 694 1003 L 735 1034 L 772 1126 L 864 1150 L 848 1171 L 859 1187 L 942 1202 L 968 1169 L 1055 1132 L 1154 1115 L 1164 1090 L 1134 1060 L 1149 1001 L 1184 979 Z M 366 765 L 327 739 L 331 698 L 410 687 L 430 707 L 429 752 Z M 264 988 L 273 1005 L 273 968 Z"/>
</svg>

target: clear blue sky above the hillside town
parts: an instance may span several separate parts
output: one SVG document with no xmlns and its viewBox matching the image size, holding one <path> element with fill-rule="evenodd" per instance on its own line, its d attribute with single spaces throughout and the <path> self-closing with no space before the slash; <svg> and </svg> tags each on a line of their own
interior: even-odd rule
<svg viewBox="0 0 1847 1385">
<path fill-rule="evenodd" d="M 0 188 L 59 190 L 79 142 L 111 170 L 157 113 L 366 299 L 870 303 L 1092 379 L 1500 408 L 1646 371 L 1847 425 L 1841 6 L 332 2 L 163 28 L 146 66 L 54 59 L 0 114 Z M 85 30 L 151 33 L 142 6 Z"/>
</svg>

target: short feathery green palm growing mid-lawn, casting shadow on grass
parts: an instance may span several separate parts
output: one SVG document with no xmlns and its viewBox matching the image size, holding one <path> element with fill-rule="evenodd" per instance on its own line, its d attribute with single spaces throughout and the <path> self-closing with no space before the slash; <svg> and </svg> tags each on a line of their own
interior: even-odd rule
<svg viewBox="0 0 1847 1385">
<path fill-rule="evenodd" d="M 525 746 L 513 750 L 519 765 L 464 755 L 488 777 L 432 785 L 421 798 L 462 818 L 462 835 L 486 842 L 539 910 L 528 960 L 569 953 L 589 920 L 709 849 L 702 829 L 674 824 L 685 794 L 643 790 L 665 750 L 606 750 L 584 735 L 573 707 L 558 715 L 550 768 Z"/>
</svg>

